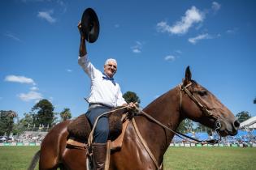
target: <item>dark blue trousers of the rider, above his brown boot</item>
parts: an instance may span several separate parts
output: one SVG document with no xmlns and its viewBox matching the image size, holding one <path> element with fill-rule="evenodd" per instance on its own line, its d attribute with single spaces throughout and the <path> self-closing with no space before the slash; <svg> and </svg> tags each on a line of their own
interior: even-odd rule
<svg viewBox="0 0 256 170">
<path fill-rule="evenodd" d="M 93 126 L 94 122 L 96 121 L 99 115 L 109 111 L 111 111 L 111 108 L 106 108 L 104 106 L 97 107 L 97 108 L 89 108 L 87 113 L 85 113 L 85 116 L 88 118 L 90 124 Z M 106 115 L 98 119 L 98 123 L 93 133 L 93 142 L 106 143 L 108 134 L 109 134 L 109 125 L 108 125 L 108 117 Z"/>
</svg>

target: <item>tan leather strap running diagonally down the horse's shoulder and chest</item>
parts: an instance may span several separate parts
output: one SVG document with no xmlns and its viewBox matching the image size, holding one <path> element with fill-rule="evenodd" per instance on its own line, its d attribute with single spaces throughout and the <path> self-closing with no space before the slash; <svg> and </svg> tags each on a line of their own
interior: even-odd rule
<svg viewBox="0 0 256 170">
<path fill-rule="evenodd" d="M 137 136 L 140 138 L 142 145 L 145 147 L 145 151 L 148 152 L 148 154 L 150 155 L 150 158 L 153 160 L 154 165 L 156 166 L 156 168 L 158 168 L 158 170 L 160 170 L 163 166 L 163 162 L 160 164 L 160 166 L 158 165 L 158 161 L 157 159 L 155 159 L 153 153 L 150 151 L 150 148 L 148 147 L 148 145 L 146 144 L 144 138 L 141 136 L 140 131 L 137 128 L 137 124 L 134 118 L 132 118 L 132 125 L 134 126 L 134 129 L 136 131 Z"/>
</svg>

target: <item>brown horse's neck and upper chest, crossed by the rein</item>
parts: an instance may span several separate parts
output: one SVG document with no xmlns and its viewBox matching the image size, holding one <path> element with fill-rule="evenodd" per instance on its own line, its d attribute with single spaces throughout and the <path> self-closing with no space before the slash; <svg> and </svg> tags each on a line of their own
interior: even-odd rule
<svg viewBox="0 0 256 170">
<path fill-rule="evenodd" d="M 143 111 L 154 119 L 160 121 L 163 125 L 167 125 L 171 130 L 176 130 L 180 124 L 180 105 L 179 105 L 179 89 L 178 87 L 167 91 L 163 96 L 158 97 L 149 104 Z M 170 145 L 174 134 L 150 121 L 145 116 L 136 117 L 138 130 L 145 139 L 150 151 L 158 160 L 163 160 L 163 154 Z"/>
</svg>

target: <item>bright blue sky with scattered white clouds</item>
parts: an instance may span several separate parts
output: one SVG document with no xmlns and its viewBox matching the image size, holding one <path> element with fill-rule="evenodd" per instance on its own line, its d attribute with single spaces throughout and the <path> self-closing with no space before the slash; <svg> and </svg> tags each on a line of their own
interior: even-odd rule
<svg viewBox="0 0 256 170">
<path fill-rule="evenodd" d="M 55 112 L 85 113 L 89 78 L 77 64 L 83 11 L 98 14 L 100 34 L 87 44 L 102 70 L 116 58 L 115 80 L 134 91 L 141 107 L 176 87 L 190 66 L 193 79 L 232 113 L 256 116 L 255 1 L 0 2 L 0 109 L 23 117 L 38 100 Z"/>
</svg>

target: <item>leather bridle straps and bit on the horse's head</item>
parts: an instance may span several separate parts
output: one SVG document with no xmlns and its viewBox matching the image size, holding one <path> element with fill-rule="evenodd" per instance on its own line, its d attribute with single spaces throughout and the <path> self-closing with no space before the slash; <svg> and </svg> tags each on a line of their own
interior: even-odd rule
<svg viewBox="0 0 256 170">
<path fill-rule="evenodd" d="M 219 140 L 221 140 L 221 136 L 219 135 L 218 130 L 221 128 L 221 124 L 219 121 L 219 117 L 216 117 L 212 112 L 210 112 L 210 110 L 208 110 L 208 108 L 201 104 L 199 100 L 197 100 L 197 98 L 195 96 L 193 96 L 193 94 L 188 90 L 188 87 L 191 86 L 192 83 L 187 84 L 186 86 L 184 86 L 183 84 L 179 84 L 179 88 L 180 88 L 180 113 L 181 113 L 181 106 L 182 106 L 182 91 L 184 91 L 191 100 L 193 100 L 193 102 L 195 104 L 197 104 L 197 106 L 202 110 L 202 113 L 206 116 L 206 117 L 213 117 L 215 119 L 215 133 L 218 134 Z"/>
</svg>

